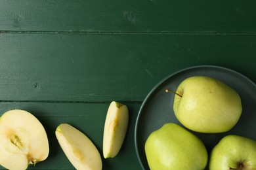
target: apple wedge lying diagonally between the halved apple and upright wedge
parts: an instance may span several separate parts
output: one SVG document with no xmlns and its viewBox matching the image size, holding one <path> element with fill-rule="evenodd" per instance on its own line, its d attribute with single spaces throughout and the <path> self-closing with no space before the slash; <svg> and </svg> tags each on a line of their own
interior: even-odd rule
<svg viewBox="0 0 256 170">
<path fill-rule="evenodd" d="M 55 134 L 75 169 L 102 169 L 100 153 L 93 142 L 81 131 L 69 124 L 60 124 Z"/>
</svg>

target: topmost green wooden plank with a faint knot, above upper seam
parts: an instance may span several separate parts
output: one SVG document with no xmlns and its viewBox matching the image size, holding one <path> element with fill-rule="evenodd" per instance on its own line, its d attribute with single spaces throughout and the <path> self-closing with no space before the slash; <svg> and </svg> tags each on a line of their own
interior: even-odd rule
<svg viewBox="0 0 256 170">
<path fill-rule="evenodd" d="M 1 31 L 255 33 L 256 1 L 1 0 Z"/>
</svg>

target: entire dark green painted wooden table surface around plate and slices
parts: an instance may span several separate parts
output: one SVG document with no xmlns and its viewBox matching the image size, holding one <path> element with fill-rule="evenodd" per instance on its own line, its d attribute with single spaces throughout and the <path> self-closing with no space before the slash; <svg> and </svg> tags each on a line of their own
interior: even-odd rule
<svg viewBox="0 0 256 170">
<path fill-rule="evenodd" d="M 256 82 L 255 7 L 254 0 L 0 0 L 0 112 L 32 112 L 49 137 L 49 158 L 30 169 L 74 169 L 54 135 L 62 122 L 102 154 L 113 100 L 129 108 L 129 128 L 103 169 L 141 169 L 135 122 L 160 80 L 218 65 Z"/>
</svg>

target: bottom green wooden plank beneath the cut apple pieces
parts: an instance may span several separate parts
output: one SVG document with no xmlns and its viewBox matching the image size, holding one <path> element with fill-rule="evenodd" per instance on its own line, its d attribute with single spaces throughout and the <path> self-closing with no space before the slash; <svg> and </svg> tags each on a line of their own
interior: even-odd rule
<svg viewBox="0 0 256 170">
<path fill-rule="evenodd" d="M 125 142 L 115 158 L 103 158 L 103 130 L 109 104 L 2 102 L 0 103 L 0 114 L 11 109 L 28 110 L 45 127 L 49 138 L 49 157 L 35 165 L 35 167 L 30 167 L 30 169 L 74 169 L 55 137 L 55 129 L 61 123 L 71 124 L 83 131 L 93 141 L 102 156 L 103 169 L 140 169 L 134 142 L 135 120 L 140 103 L 123 103 L 129 109 L 129 127 Z M 3 167 L 0 167 L 0 169 L 3 169 Z"/>
</svg>

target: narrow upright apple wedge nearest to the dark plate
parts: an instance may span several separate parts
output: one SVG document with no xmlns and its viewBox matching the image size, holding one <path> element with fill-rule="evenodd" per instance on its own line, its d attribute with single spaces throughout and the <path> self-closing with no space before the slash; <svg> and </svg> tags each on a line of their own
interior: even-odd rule
<svg viewBox="0 0 256 170">
<path fill-rule="evenodd" d="M 103 135 L 103 156 L 114 158 L 119 152 L 129 121 L 128 109 L 125 105 L 112 101 L 106 114 Z"/>
</svg>

